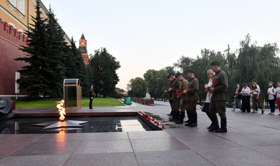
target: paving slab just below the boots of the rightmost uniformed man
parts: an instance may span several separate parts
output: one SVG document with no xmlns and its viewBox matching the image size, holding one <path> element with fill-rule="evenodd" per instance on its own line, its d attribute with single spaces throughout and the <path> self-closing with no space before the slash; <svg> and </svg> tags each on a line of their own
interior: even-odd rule
<svg viewBox="0 0 280 166">
<path fill-rule="evenodd" d="M 193 150 L 240 147 L 240 145 L 215 136 L 178 138 L 178 140 Z"/>
</svg>

